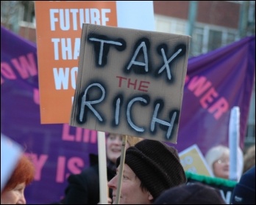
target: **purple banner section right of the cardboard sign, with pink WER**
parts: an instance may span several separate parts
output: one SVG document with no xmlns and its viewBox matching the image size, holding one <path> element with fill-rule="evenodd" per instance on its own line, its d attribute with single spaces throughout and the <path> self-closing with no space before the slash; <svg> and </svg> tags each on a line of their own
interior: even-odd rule
<svg viewBox="0 0 256 205">
<path fill-rule="evenodd" d="M 255 78 L 255 36 L 188 60 L 177 145 L 196 143 L 203 154 L 217 144 L 229 146 L 230 112 L 240 108 L 243 149 Z"/>
</svg>

